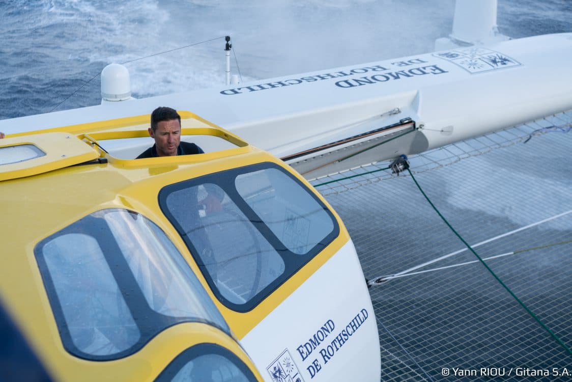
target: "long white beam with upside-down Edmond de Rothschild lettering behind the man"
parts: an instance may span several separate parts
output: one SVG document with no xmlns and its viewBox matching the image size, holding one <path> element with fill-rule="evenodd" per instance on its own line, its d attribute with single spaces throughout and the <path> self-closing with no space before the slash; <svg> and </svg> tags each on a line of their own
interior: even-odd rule
<svg viewBox="0 0 572 382">
<path fill-rule="evenodd" d="M 467 62 L 474 48 L 465 49 L 460 52 L 467 57 L 464 67 L 461 60 L 420 54 L 225 88 L 1 120 L 0 131 L 10 134 L 150 114 L 154 108 L 168 105 L 197 113 L 257 147 L 284 156 L 327 143 L 345 133 L 348 125 L 397 107 L 402 113 L 383 123 L 411 117 L 424 124 L 426 143 L 401 147 L 403 152 L 391 153 L 394 157 L 572 109 L 572 33 L 488 46 L 492 58 L 498 54 L 518 65 L 499 61 L 496 69 L 472 73 Z M 378 81 L 372 80 L 376 75 Z M 390 80 L 385 80 L 387 77 Z M 360 80 L 372 83 L 348 85 Z M 358 126 L 347 133 L 368 131 L 379 124 Z M 448 133 L 442 133 L 442 129 L 448 129 Z"/>
</svg>

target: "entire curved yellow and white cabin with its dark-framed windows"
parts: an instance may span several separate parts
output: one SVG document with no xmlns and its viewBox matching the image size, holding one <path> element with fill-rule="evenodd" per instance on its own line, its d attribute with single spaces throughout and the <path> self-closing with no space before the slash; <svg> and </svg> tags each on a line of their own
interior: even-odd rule
<svg viewBox="0 0 572 382">
<path fill-rule="evenodd" d="M 132 159 L 148 115 L 0 140 L 0 301 L 50 376 L 379 381 L 339 216 L 281 160 L 180 114 L 183 140 L 216 149 Z"/>
</svg>

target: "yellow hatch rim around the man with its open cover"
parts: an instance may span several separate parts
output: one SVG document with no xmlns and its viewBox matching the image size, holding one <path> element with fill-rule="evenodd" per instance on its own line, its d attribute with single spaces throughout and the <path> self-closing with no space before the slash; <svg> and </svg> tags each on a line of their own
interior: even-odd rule
<svg viewBox="0 0 572 382">
<path fill-rule="evenodd" d="M 233 133 L 190 112 L 181 111 L 181 136 L 217 137 L 234 145 L 208 154 L 208 157 L 161 158 L 162 162 L 200 162 L 249 151 L 249 145 Z M 120 159 L 106 150 L 105 141 L 148 137 L 149 115 L 70 125 L 13 134 L 0 141 L 0 181 L 25 178 L 61 168 L 98 160 L 121 167 L 157 164 L 157 159 Z"/>
</svg>

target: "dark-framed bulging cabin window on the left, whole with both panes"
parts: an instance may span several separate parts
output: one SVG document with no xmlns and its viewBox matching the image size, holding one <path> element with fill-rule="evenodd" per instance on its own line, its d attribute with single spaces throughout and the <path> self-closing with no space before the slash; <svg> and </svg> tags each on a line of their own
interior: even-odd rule
<svg viewBox="0 0 572 382">
<path fill-rule="evenodd" d="M 188 264 L 153 222 L 109 209 L 34 249 L 64 347 L 111 360 L 178 322 L 228 326 Z"/>
</svg>

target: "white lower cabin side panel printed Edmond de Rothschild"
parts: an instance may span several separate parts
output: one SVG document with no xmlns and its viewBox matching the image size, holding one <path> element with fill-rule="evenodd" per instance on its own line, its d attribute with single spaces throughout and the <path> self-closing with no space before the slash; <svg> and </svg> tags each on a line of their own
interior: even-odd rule
<svg viewBox="0 0 572 382">
<path fill-rule="evenodd" d="M 336 344 L 332 344 L 332 341 L 335 341 L 342 330 L 347 330 L 348 324 L 363 309 L 367 311 L 368 317 L 355 331 L 349 328 L 352 335 L 347 337 L 343 345 L 339 346 L 339 342 L 336 341 L 338 344 L 336 351 Z M 333 330 L 308 355 L 305 349 L 309 348 L 304 347 L 306 342 L 309 342 L 309 338 L 312 338 L 328 321 L 333 323 Z M 285 356 L 291 358 L 305 382 L 351 380 L 378 382 L 380 380 L 378 326 L 353 243 L 349 241 L 345 244 L 252 329 L 241 344 L 268 382 L 275 382 L 268 369 L 273 371 L 276 361 L 283 360 Z M 302 346 L 301 353 L 298 350 L 300 346 Z M 331 348 L 328 349 L 328 346 Z M 285 350 L 287 353 L 284 353 Z M 281 355 L 283 356 L 280 357 Z M 310 369 L 315 360 L 321 369 L 317 372 L 313 370 L 315 374 L 312 377 Z"/>
</svg>

